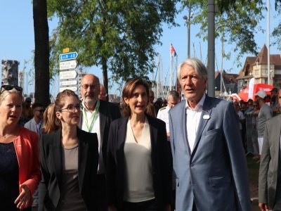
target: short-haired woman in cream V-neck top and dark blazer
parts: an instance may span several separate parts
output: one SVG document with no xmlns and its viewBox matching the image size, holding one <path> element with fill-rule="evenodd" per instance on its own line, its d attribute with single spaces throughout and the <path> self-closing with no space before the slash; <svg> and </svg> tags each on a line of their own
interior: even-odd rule
<svg viewBox="0 0 281 211">
<path fill-rule="evenodd" d="M 147 115 L 148 84 L 141 78 L 122 91 L 124 118 L 110 125 L 107 145 L 109 210 L 170 210 L 171 160 L 162 120 Z"/>
</svg>

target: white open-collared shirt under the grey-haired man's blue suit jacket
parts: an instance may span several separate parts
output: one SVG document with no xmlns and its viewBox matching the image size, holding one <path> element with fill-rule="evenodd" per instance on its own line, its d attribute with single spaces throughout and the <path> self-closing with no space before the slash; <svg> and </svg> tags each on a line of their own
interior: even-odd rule
<svg viewBox="0 0 281 211">
<path fill-rule="evenodd" d="M 186 131 L 188 132 L 188 143 L 190 147 L 190 152 L 193 151 L 194 142 L 196 138 L 196 133 L 198 129 L 198 125 L 200 122 L 200 117 L 202 114 L 202 107 L 205 101 L 205 94 L 202 96 L 201 100 L 195 108 L 192 110 L 190 106 L 188 106 L 188 101 L 186 101 Z"/>
</svg>

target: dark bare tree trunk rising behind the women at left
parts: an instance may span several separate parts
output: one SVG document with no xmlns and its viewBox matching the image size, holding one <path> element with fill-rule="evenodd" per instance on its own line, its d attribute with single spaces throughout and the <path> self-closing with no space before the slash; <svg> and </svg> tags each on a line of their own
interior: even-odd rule
<svg viewBox="0 0 281 211">
<path fill-rule="evenodd" d="M 46 0 L 33 0 L 35 99 L 48 106 L 49 99 L 49 43 Z"/>
</svg>

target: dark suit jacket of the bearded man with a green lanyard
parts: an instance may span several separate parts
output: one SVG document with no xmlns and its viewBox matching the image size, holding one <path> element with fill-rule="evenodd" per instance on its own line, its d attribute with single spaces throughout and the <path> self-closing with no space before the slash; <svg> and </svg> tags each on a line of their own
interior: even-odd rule
<svg viewBox="0 0 281 211">
<path fill-rule="evenodd" d="M 100 100 L 100 108 L 98 109 L 100 115 L 100 139 L 101 148 L 103 153 L 103 162 L 106 164 L 107 154 L 107 139 L 110 132 L 110 123 L 121 117 L 120 109 L 114 103 Z M 83 122 L 83 115 L 81 115 L 81 121 L 79 127 L 81 128 L 81 122 Z"/>
</svg>

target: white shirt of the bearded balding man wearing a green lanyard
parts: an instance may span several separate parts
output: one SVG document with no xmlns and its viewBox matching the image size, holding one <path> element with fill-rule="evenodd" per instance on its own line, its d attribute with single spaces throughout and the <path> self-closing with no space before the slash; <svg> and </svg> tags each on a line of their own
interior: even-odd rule
<svg viewBox="0 0 281 211">
<path fill-rule="evenodd" d="M 102 144 L 101 144 L 101 139 L 100 139 L 100 113 L 98 112 L 95 117 L 95 111 L 93 111 L 93 113 L 92 113 L 90 110 L 88 110 L 86 108 L 86 106 L 84 105 L 84 102 L 82 102 L 82 104 L 84 107 L 83 110 L 86 113 L 88 124 L 90 125 L 92 121 L 94 121 L 94 122 L 93 122 L 93 127 L 91 128 L 91 131 L 88 131 L 88 128 L 86 127 L 86 123 L 84 120 L 83 112 L 81 112 L 81 129 L 86 132 L 97 134 L 97 136 L 98 136 L 98 154 L 99 154 L 97 174 L 104 174 L 105 167 L 103 165 L 103 151 L 101 150 Z M 95 120 L 93 120 L 93 117 L 95 117 Z"/>
</svg>

